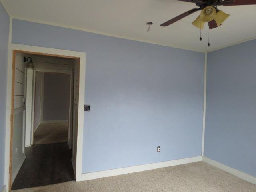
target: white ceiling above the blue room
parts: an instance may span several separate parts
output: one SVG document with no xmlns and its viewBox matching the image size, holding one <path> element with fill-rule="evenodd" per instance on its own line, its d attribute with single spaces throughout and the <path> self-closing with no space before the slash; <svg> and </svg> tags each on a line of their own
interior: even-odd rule
<svg viewBox="0 0 256 192">
<path fill-rule="evenodd" d="M 175 0 L 1 0 L 13 18 L 152 42 L 196 51 L 209 51 L 256 37 L 256 5 L 220 6 L 231 16 L 222 26 L 202 31 L 192 26 L 196 12 L 168 27 L 160 24 L 196 8 L 195 4 Z M 146 32 L 146 22 L 153 22 Z"/>
</svg>

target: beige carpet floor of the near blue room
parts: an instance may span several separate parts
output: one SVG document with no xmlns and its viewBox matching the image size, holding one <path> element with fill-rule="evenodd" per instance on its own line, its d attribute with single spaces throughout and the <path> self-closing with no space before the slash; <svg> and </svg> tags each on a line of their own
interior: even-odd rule
<svg viewBox="0 0 256 192">
<path fill-rule="evenodd" d="M 256 192 L 256 185 L 204 162 L 13 192 Z"/>
</svg>

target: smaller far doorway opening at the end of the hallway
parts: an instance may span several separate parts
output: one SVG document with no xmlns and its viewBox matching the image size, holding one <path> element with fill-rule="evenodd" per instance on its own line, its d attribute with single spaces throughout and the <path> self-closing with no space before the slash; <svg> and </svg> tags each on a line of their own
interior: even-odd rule
<svg viewBox="0 0 256 192">
<path fill-rule="evenodd" d="M 69 120 L 73 95 L 71 74 L 36 71 L 35 79 L 34 139 L 31 143 L 27 138 L 26 146 L 68 143 L 72 120 Z"/>
</svg>

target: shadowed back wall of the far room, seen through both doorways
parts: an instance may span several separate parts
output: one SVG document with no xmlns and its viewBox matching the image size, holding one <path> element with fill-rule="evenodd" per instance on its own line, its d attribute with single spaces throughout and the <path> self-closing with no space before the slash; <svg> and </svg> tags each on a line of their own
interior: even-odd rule
<svg viewBox="0 0 256 192">
<path fill-rule="evenodd" d="M 68 122 L 70 74 L 44 73 L 43 92 L 43 122 Z"/>
</svg>

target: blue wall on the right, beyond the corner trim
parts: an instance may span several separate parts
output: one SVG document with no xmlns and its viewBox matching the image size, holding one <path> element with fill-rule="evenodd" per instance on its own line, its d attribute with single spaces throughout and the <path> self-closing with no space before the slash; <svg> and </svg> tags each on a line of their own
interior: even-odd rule
<svg viewBox="0 0 256 192">
<path fill-rule="evenodd" d="M 256 176 L 256 40 L 210 52 L 204 155 Z"/>
</svg>

